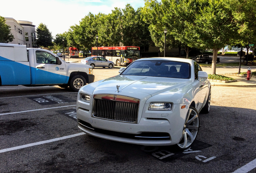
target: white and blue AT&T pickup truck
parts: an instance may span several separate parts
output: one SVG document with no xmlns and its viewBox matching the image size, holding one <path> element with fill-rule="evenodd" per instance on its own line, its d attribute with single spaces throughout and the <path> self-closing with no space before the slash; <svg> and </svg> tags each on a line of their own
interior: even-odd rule
<svg viewBox="0 0 256 173">
<path fill-rule="evenodd" d="M 0 86 L 59 85 L 77 92 L 93 81 L 89 65 L 65 62 L 49 50 L 0 43 Z"/>
</svg>

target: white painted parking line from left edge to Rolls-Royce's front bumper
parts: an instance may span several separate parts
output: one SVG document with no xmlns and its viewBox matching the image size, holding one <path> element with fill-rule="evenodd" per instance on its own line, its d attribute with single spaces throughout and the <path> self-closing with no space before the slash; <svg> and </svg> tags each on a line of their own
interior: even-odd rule
<svg viewBox="0 0 256 173">
<path fill-rule="evenodd" d="M 81 135 L 85 135 L 85 133 L 82 132 L 82 133 L 77 133 L 77 134 L 69 135 L 69 136 L 65 136 L 65 137 L 49 139 L 49 140 L 41 141 L 41 142 L 37 142 L 37 143 L 21 145 L 21 146 L 18 146 L 18 147 L 12 147 L 12 148 L 8 148 L 8 149 L 2 149 L 2 150 L 0 150 L 0 153 L 4 153 L 4 152 L 7 152 L 7 151 L 13 151 L 13 150 L 17 150 L 17 149 L 22 149 L 22 148 L 27 148 L 27 147 L 32 147 L 32 146 L 35 146 L 35 145 L 41 145 L 41 144 L 45 144 L 45 143 L 51 143 L 51 142 L 54 142 L 54 141 L 60 141 L 60 140 L 63 140 L 63 139 L 68 139 L 68 138 L 77 137 L 77 136 L 81 136 Z"/>
</svg>

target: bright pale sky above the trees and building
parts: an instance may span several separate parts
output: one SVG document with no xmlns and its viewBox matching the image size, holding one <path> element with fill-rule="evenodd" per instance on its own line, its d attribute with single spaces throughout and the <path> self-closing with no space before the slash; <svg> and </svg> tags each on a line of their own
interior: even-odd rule
<svg viewBox="0 0 256 173">
<path fill-rule="evenodd" d="M 89 12 L 109 14 L 128 3 L 135 10 L 144 6 L 144 0 L 2 0 L 0 16 L 27 20 L 36 28 L 42 22 L 55 36 L 79 24 Z"/>
</svg>

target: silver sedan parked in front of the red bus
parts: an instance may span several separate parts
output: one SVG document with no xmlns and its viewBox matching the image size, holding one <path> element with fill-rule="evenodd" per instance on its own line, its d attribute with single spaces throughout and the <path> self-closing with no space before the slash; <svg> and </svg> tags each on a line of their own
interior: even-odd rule
<svg viewBox="0 0 256 173">
<path fill-rule="evenodd" d="M 109 61 L 101 56 L 90 56 L 81 60 L 81 63 L 91 65 L 93 68 L 96 67 L 108 67 L 112 68 L 115 66 L 115 63 Z"/>
</svg>

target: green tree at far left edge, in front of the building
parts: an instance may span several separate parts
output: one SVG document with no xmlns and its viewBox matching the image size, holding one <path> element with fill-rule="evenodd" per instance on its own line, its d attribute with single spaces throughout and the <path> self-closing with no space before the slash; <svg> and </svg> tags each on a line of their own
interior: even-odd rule
<svg viewBox="0 0 256 173">
<path fill-rule="evenodd" d="M 8 43 L 12 42 L 14 36 L 10 32 L 10 26 L 5 23 L 5 18 L 0 16 L 0 42 Z"/>
</svg>

